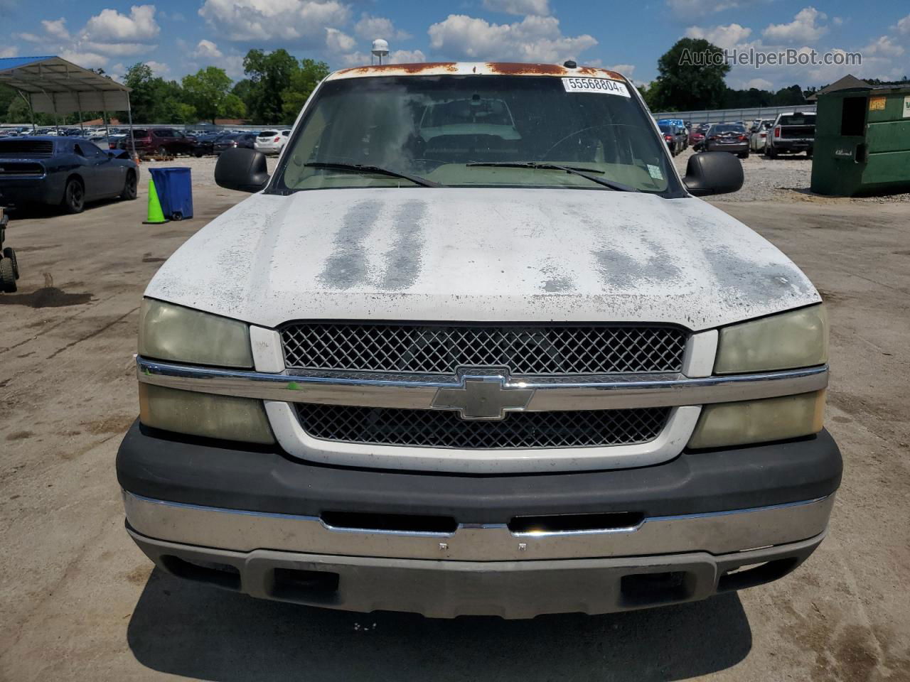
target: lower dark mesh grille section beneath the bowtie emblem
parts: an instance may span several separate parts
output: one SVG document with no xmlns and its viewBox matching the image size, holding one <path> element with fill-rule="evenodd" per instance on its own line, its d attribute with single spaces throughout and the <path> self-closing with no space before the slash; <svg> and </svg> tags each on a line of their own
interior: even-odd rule
<svg viewBox="0 0 910 682">
<path fill-rule="evenodd" d="M 647 443 L 669 407 L 573 412 L 510 412 L 501 421 L 464 421 L 448 410 L 297 403 L 300 426 L 314 438 L 383 446 L 503 449 Z"/>
</svg>

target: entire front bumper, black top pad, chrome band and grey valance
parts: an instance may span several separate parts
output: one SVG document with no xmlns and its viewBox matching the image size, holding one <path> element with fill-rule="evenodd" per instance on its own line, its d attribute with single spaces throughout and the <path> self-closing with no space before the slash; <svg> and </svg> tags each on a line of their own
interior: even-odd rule
<svg viewBox="0 0 910 682">
<path fill-rule="evenodd" d="M 841 467 L 826 432 L 532 476 L 322 466 L 138 423 L 117 454 L 127 529 L 164 570 L 257 597 L 440 617 L 602 613 L 767 582 L 821 542 Z M 566 515 L 583 521 L 547 529 Z M 440 519 L 451 527 L 427 529 Z"/>
</svg>

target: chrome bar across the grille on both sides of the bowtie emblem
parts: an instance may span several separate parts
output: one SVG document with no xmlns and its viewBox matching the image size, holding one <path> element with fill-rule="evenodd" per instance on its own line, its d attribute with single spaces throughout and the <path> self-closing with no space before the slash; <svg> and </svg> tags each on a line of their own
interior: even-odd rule
<svg viewBox="0 0 910 682">
<path fill-rule="evenodd" d="M 451 376 L 369 375 L 355 372 L 319 375 L 217 369 L 136 358 L 140 382 L 220 396 L 245 396 L 289 403 L 430 409 L 440 388 L 463 387 Z M 828 367 L 780 372 L 706 376 L 681 374 L 605 376 L 510 376 L 503 389 L 534 389 L 527 410 L 618 409 L 729 403 L 791 396 L 828 385 Z"/>
</svg>

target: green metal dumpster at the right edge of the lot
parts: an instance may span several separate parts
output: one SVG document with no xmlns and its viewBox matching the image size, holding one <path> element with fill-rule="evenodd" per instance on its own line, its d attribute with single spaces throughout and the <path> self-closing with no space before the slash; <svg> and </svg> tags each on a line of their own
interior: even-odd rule
<svg viewBox="0 0 910 682">
<path fill-rule="evenodd" d="M 812 191 L 828 196 L 910 191 L 910 85 L 819 96 Z"/>
</svg>

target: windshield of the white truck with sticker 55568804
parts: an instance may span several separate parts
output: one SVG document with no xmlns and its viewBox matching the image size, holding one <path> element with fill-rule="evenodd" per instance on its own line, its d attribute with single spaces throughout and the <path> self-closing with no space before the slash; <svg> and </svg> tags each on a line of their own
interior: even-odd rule
<svg viewBox="0 0 910 682">
<path fill-rule="evenodd" d="M 564 83 L 581 81 L 588 83 Z M 440 186 L 604 189 L 590 178 L 541 167 L 547 164 L 642 192 L 685 196 L 652 120 L 626 96 L 627 87 L 601 78 L 531 75 L 329 81 L 291 136 L 268 191 L 415 186 L 338 165 L 379 167 Z"/>
</svg>

